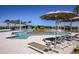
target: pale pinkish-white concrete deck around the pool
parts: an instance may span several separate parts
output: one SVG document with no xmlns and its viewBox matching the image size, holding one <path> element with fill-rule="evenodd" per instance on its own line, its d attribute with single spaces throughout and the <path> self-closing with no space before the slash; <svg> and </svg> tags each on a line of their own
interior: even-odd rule
<svg viewBox="0 0 79 59">
<path fill-rule="evenodd" d="M 6 39 L 10 37 L 11 32 L 0 33 L 0 54 L 40 54 L 39 52 L 28 47 L 28 43 L 37 42 L 45 45 L 42 41 L 45 37 L 52 37 L 52 35 L 30 36 L 27 39 Z M 79 42 L 73 41 L 73 44 L 60 53 L 68 54 Z M 58 49 L 59 50 L 59 49 Z"/>
</svg>

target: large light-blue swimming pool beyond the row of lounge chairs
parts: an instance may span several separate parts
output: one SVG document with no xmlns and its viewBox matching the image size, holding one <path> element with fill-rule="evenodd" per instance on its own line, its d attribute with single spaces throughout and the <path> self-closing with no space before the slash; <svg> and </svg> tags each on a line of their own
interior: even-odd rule
<svg viewBox="0 0 79 59">
<path fill-rule="evenodd" d="M 50 32 L 33 32 L 33 31 L 21 31 L 21 32 L 12 32 L 12 35 L 16 35 L 15 39 L 27 39 L 29 36 L 36 35 L 68 35 L 67 32 L 59 32 L 52 30 Z"/>
</svg>

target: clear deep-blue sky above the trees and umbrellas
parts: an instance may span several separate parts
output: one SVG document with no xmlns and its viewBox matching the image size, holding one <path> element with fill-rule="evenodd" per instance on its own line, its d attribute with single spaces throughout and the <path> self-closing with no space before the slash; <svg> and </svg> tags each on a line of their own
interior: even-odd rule
<svg viewBox="0 0 79 59">
<path fill-rule="evenodd" d="M 31 21 L 32 25 L 54 26 L 54 21 L 42 20 L 40 16 L 49 11 L 73 11 L 74 7 L 74 5 L 0 5 L 0 21 L 21 19 Z M 6 24 L 0 22 L 0 25 Z"/>
</svg>

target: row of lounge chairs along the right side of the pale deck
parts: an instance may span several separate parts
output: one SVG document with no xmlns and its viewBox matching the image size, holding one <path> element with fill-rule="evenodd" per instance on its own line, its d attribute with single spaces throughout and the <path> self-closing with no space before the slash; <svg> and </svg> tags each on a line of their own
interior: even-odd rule
<svg viewBox="0 0 79 59">
<path fill-rule="evenodd" d="M 59 53 L 58 51 L 53 50 L 50 46 L 51 45 L 57 45 L 57 44 L 61 45 L 64 42 L 64 40 L 65 41 L 72 41 L 72 40 L 77 40 L 77 39 L 79 39 L 79 34 L 75 34 L 74 36 L 66 35 L 66 36 L 61 36 L 61 37 L 56 37 L 56 38 L 49 37 L 49 38 L 43 39 L 43 41 L 46 43 L 46 45 L 42 45 L 42 44 L 39 44 L 39 43 L 36 43 L 36 42 L 31 42 L 28 45 L 32 49 L 37 50 L 41 53 L 47 53 L 49 51 Z M 79 40 L 77 40 L 77 41 L 79 41 Z M 61 47 L 61 49 L 66 48 L 67 46 L 70 45 L 70 43 L 69 43 L 69 45 L 67 45 L 67 44 L 65 44 L 65 45 L 66 46 Z"/>
</svg>

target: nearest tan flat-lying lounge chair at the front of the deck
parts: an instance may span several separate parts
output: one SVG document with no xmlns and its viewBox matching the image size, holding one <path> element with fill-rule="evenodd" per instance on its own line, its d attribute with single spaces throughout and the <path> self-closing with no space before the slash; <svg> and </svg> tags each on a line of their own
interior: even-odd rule
<svg viewBox="0 0 79 59">
<path fill-rule="evenodd" d="M 36 42 L 31 42 L 28 44 L 28 46 L 42 54 L 45 54 L 45 53 L 49 53 L 49 49 L 47 49 L 47 47 L 45 45 L 42 45 L 42 44 L 39 44 L 39 43 L 36 43 Z M 54 51 L 52 50 L 53 52 L 57 53 L 57 51 Z"/>
</svg>

